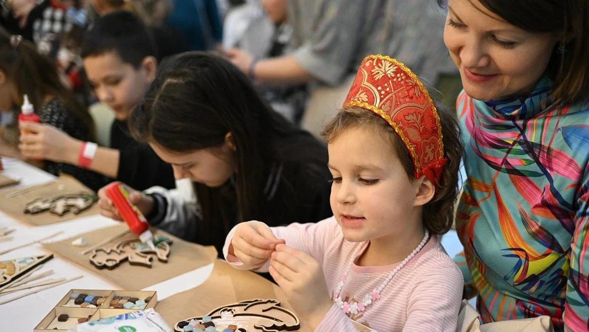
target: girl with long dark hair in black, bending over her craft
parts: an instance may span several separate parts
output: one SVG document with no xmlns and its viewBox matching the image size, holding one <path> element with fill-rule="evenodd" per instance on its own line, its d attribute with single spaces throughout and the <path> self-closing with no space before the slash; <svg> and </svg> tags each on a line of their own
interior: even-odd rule
<svg viewBox="0 0 589 332">
<path fill-rule="evenodd" d="M 162 188 L 131 193 L 168 233 L 221 253 L 240 222 L 315 223 L 331 214 L 326 148 L 266 105 L 226 59 L 188 52 L 164 61 L 129 127 L 176 178 L 194 182 L 196 202 Z M 98 195 L 101 213 L 120 220 L 104 190 Z"/>
</svg>

